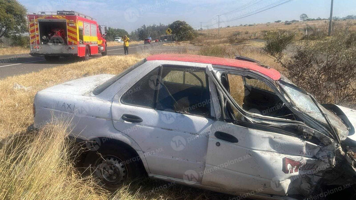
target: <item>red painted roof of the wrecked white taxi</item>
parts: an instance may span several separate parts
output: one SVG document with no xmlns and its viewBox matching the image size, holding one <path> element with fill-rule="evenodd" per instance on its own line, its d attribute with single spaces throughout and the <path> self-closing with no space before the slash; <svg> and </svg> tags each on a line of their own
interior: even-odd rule
<svg viewBox="0 0 356 200">
<path fill-rule="evenodd" d="M 259 72 L 273 80 L 279 80 L 281 74 L 275 69 L 267 69 L 254 62 L 243 60 L 236 60 L 230 58 L 211 57 L 203 55 L 190 55 L 190 54 L 157 54 L 146 58 L 146 60 L 171 60 L 183 62 L 197 62 L 214 65 L 234 66 L 236 68 L 243 68 Z"/>
</svg>

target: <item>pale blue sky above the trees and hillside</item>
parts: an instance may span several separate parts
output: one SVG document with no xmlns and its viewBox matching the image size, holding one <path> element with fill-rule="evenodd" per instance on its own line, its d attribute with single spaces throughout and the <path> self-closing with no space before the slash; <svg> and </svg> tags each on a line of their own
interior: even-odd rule
<svg viewBox="0 0 356 200">
<path fill-rule="evenodd" d="M 222 15 L 221 21 L 241 17 L 281 0 L 254 0 L 258 4 L 250 8 Z M 143 24 L 169 24 L 175 20 L 184 20 L 194 28 L 212 25 L 217 22 L 216 15 L 239 8 L 251 0 L 163 0 L 163 1 L 88 1 L 88 0 L 19 0 L 28 12 L 75 10 L 98 20 L 99 24 L 124 28 L 131 32 Z M 276 20 L 299 20 L 302 13 L 310 18 L 328 18 L 330 0 L 294 0 L 276 8 L 246 18 L 222 22 L 220 26 L 273 22 Z M 335 0 L 334 16 L 356 15 L 355 0 Z M 217 28 L 218 25 L 209 26 Z M 204 28 L 204 27 L 203 27 Z"/>
</svg>

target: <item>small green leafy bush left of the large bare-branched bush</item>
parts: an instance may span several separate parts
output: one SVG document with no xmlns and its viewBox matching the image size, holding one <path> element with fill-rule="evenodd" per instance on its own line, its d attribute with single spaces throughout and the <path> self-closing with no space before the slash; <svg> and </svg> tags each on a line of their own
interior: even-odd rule
<svg viewBox="0 0 356 200">
<path fill-rule="evenodd" d="M 264 35 L 265 46 L 263 50 L 280 60 L 283 56 L 283 51 L 294 40 L 295 35 L 285 30 L 268 31 Z"/>
</svg>

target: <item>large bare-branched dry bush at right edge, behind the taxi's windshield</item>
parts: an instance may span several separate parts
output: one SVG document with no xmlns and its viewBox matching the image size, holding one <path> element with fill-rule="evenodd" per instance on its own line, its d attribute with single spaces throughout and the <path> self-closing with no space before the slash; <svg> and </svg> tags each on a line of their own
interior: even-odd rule
<svg viewBox="0 0 356 200">
<path fill-rule="evenodd" d="M 355 36 L 345 31 L 330 40 L 302 43 L 283 64 L 288 78 L 320 103 L 356 108 Z"/>
</svg>

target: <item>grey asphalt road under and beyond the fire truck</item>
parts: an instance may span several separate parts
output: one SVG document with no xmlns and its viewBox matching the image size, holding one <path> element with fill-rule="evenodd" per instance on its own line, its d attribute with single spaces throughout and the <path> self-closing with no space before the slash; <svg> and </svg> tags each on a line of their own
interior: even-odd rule
<svg viewBox="0 0 356 200">
<path fill-rule="evenodd" d="M 129 53 L 139 53 L 157 48 L 161 43 L 153 43 L 152 45 L 130 45 Z M 123 46 L 108 47 L 107 54 L 110 55 L 123 55 Z M 91 56 L 91 59 L 101 57 L 101 54 Z M 73 58 L 61 58 L 59 62 L 50 63 L 45 60 L 43 56 L 31 56 L 29 54 L 17 55 L 4 55 L 0 56 L 0 79 L 8 76 L 27 74 L 31 72 L 38 72 L 45 68 L 53 68 L 54 66 L 68 64 L 75 62 Z"/>
</svg>

